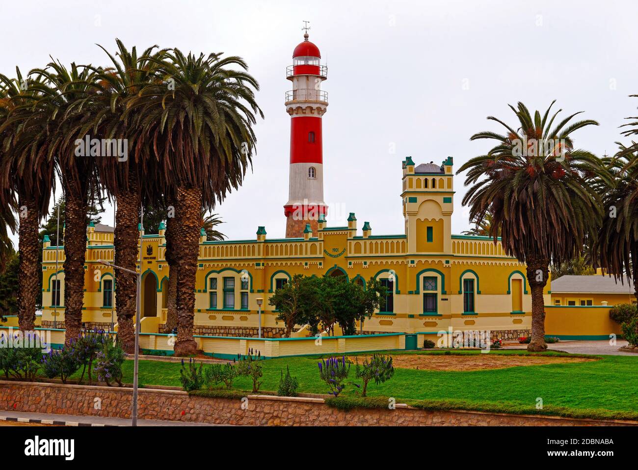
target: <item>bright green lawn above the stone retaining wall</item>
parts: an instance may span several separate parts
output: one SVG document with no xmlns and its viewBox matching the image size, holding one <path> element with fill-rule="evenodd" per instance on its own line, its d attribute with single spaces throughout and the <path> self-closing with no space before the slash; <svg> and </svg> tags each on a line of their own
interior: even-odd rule
<svg viewBox="0 0 638 470">
<path fill-rule="evenodd" d="M 463 354 L 479 354 L 479 351 L 464 351 Z M 489 354 L 520 353 L 493 351 Z M 397 368 L 394 377 L 387 383 L 369 384 L 368 395 L 395 397 L 397 402 L 461 400 L 463 403 L 455 401 L 459 407 L 501 409 L 516 413 L 536 413 L 538 410 L 535 406 L 540 397 L 544 413 L 547 414 L 638 419 L 638 359 L 631 356 L 598 357 L 598 361 L 582 363 L 471 372 Z M 261 390 L 276 391 L 281 370 L 285 371 L 288 365 L 290 374 L 299 379 L 299 392 L 327 393 L 327 386 L 318 378 L 317 361 L 317 357 L 263 361 Z M 140 361 L 140 384 L 180 386 L 180 369 L 179 363 Z M 133 361 L 126 361 L 124 381 L 131 383 L 132 374 Z M 355 380 L 354 366 L 350 377 Z M 235 380 L 234 388 L 251 390 L 251 382 L 239 377 Z M 342 395 L 352 396 L 355 390 L 354 386 L 348 386 Z"/>
</svg>

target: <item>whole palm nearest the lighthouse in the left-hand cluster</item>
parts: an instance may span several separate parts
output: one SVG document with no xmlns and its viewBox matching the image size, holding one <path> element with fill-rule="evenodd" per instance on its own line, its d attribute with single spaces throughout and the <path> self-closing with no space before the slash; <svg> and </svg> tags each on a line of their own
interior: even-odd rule
<svg viewBox="0 0 638 470">
<path fill-rule="evenodd" d="M 239 57 L 184 56 L 174 49 L 156 64 L 165 84 L 146 87 L 131 109 L 139 108 L 139 122 L 156 149 L 156 174 L 165 178 L 167 200 L 175 201 L 179 356 L 197 349 L 194 292 L 202 209 L 211 210 L 241 185 L 255 149 L 251 126 L 255 114 L 263 114 L 253 91 L 258 84 Z"/>
</svg>

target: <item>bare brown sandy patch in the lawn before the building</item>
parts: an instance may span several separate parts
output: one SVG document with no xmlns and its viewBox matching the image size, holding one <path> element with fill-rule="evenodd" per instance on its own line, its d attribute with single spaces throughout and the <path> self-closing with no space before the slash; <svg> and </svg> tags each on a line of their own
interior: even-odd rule
<svg viewBox="0 0 638 470">
<path fill-rule="evenodd" d="M 350 358 L 353 362 L 355 358 Z M 359 356 L 359 361 L 362 358 Z M 477 354 L 476 356 L 443 354 L 397 354 L 392 355 L 396 368 L 424 370 L 484 370 L 503 369 L 525 365 L 543 365 L 571 362 L 595 361 L 590 358 L 569 358 L 551 356 L 505 356 L 496 354 Z"/>
</svg>

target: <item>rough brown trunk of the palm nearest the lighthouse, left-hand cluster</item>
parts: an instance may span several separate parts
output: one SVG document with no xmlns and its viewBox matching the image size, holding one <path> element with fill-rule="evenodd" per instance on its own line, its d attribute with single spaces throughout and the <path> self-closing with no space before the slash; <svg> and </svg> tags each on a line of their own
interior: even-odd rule
<svg viewBox="0 0 638 470">
<path fill-rule="evenodd" d="M 175 226 L 177 261 L 177 342 L 175 356 L 188 356 L 197 351 L 193 339 L 195 322 L 195 277 L 199 255 L 199 229 L 202 216 L 202 191 L 199 188 L 177 188 L 179 224 Z"/>
</svg>

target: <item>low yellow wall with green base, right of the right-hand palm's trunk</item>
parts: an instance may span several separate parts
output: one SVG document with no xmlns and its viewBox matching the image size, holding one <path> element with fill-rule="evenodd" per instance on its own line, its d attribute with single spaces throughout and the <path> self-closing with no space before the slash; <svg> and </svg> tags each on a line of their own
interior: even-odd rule
<svg viewBox="0 0 638 470">
<path fill-rule="evenodd" d="M 565 340 L 604 340 L 620 335 L 620 325 L 609 318 L 611 307 L 545 305 L 545 335 Z"/>
</svg>

